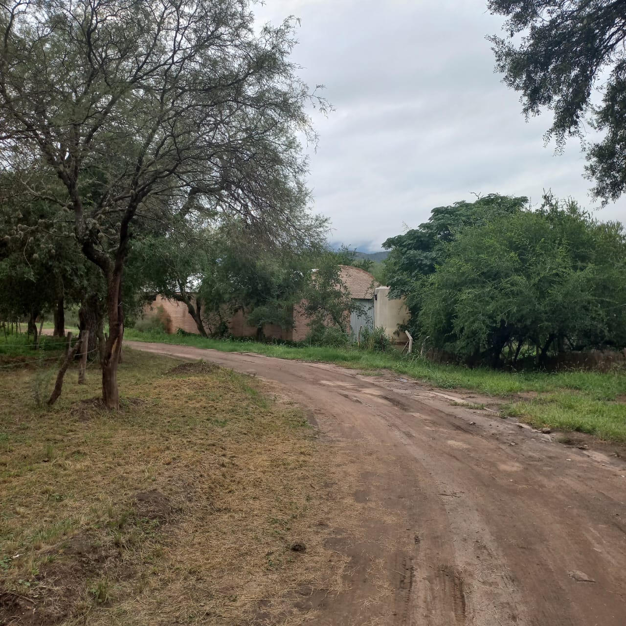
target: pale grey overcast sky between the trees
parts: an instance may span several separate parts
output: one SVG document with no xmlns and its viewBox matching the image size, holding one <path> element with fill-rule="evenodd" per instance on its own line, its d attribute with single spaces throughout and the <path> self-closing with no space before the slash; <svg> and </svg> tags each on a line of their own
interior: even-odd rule
<svg viewBox="0 0 626 626">
<path fill-rule="evenodd" d="M 544 146 L 546 113 L 526 123 L 519 96 L 493 71 L 486 34 L 501 18 L 486 0 L 267 0 L 257 19 L 301 19 L 294 61 L 309 85 L 326 85 L 334 113 L 314 116 L 314 210 L 332 242 L 376 251 L 472 193 L 543 189 L 594 208 L 577 141 Z M 626 199 L 597 213 L 626 221 Z"/>
</svg>

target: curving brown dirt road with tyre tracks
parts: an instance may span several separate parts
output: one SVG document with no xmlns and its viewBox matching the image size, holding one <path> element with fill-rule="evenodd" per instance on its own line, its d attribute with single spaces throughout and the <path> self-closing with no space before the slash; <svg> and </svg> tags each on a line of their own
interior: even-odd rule
<svg viewBox="0 0 626 626">
<path fill-rule="evenodd" d="M 350 564 L 346 586 L 312 591 L 307 623 L 626 625 L 623 460 L 392 374 L 127 344 L 278 383 L 334 446 L 357 523 L 329 529 L 327 547 Z"/>
</svg>

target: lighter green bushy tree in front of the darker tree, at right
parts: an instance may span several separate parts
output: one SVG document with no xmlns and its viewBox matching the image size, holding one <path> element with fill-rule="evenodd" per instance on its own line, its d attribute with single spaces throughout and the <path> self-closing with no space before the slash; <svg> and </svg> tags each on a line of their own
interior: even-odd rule
<svg viewBox="0 0 626 626">
<path fill-rule="evenodd" d="M 418 328 L 438 349 L 496 366 L 626 345 L 626 235 L 575 202 L 465 228 L 422 290 Z"/>
</svg>

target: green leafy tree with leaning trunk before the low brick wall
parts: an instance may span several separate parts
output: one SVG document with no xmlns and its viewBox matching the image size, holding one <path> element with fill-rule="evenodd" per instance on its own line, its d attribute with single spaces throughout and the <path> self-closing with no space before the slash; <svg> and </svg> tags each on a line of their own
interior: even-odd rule
<svg viewBox="0 0 626 626">
<path fill-rule="evenodd" d="M 326 220 L 302 213 L 292 242 L 245 223 L 182 227 L 135 245 L 148 291 L 182 302 L 203 336 L 227 332 L 228 320 L 243 310 L 262 334 L 265 324 L 289 329 L 292 308 L 319 254 Z"/>
</svg>

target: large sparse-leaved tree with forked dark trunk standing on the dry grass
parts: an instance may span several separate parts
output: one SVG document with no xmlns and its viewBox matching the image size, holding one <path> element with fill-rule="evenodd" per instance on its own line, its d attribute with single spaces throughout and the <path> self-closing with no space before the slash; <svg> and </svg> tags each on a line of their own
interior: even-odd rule
<svg viewBox="0 0 626 626">
<path fill-rule="evenodd" d="M 15 1 L 0 6 L 0 40 L 4 164 L 44 163 L 61 182 L 23 181 L 73 220 L 105 279 L 102 398 L 117 408 L 123 275 L 142 224 L 207 212 L 297 229 L 295 136 L 311 131 L 293 24 L 257 31 L 248 0 Z"/>
</svg>

